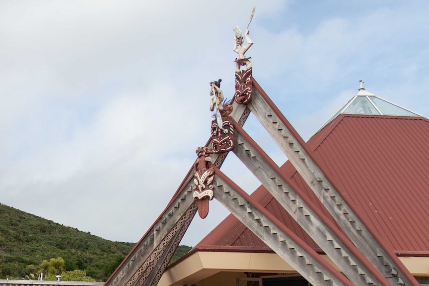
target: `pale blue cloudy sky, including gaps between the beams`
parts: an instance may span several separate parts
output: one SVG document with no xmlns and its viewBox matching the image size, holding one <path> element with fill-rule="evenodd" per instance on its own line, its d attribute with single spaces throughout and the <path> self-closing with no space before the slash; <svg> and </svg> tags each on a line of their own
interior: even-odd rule
<svg viewBox="0 0 429 286">
<path fill-rule="evenodd" d="M 234 32 L 253 77 L 308 140 L 365 82 L 429 116 L 429 1 L 0 1 L 0 202 L 137 242 L 210 136 L 212 80 L 234 93 Z M 244 129 L 287 158 L 250 116 Z M 259 182 L 229 154 L 221 169 Z M 215 200 L 181 244 L 228 211 Z"/>
</svg>

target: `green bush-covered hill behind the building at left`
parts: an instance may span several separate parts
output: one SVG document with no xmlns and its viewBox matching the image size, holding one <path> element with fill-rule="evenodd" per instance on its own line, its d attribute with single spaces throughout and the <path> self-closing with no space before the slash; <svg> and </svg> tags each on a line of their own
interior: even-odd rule
<svg viewBox="0 0 429 286">
<path fill-rule="evenodd" d="M 62 257 L 65 271 L 106 281 L 133 246 L 0 204 L 0 279 L 36 274 L 43 260 Z"/>
</svg>

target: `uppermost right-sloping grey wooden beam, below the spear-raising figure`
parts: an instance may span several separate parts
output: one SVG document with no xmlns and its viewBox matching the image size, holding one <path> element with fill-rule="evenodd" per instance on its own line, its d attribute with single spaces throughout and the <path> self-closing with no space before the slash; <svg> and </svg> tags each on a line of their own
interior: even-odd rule
<svg viewBox="0 0 429 286">
<path fill-rule="evenodd" d="M 398 272 L 397 277 L 390 277 L 391 285 L 419 286 L 398 257 L 383 247 L 326 178 L 308 152 L 304 140 L 254 79 L 253 96 L 248 107 L 362 254 L 382 275 L 390 277 L 395 270 Z"/>
</svg>

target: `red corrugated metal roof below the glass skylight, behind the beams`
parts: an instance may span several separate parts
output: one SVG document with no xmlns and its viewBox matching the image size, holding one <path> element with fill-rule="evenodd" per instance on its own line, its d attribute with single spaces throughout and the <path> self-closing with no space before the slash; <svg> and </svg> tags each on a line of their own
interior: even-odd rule
<svg viewBox="0 0 429 286">
<path fill-rule="evenodd" d="M 342 114 L 307 144 L 337 190 L 386 247 L 398 254 L 429 256 L 428 119 Z M 282 171 L 322 207 L 290 162 Z M 251 196 L 319 250 L 264 187 Z M 269 250 L 232 215 L 195 249 L 234 247 Z"/>
</svg>

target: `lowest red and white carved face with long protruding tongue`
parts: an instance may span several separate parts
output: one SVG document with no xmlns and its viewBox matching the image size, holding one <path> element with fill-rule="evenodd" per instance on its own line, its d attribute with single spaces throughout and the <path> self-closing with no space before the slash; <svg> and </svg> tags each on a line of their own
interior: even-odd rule
<svg viewBox="0 0 429 286">
<path fill-rule="evenodd" d="M 213 151 L 208 147 L 197 148 L 197 160 L 194 163 L 194 200 L 198 201 L 198 214 L 205 218 L 209 213 L 209 200 L 214 197 L 213 179 L 214 169 L 212 158 Z"/>
</svg>

